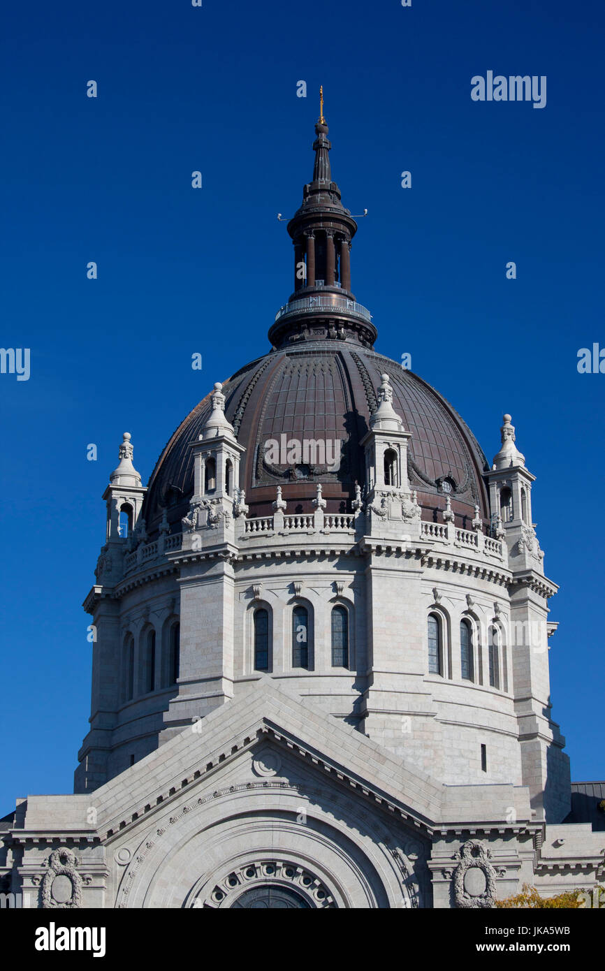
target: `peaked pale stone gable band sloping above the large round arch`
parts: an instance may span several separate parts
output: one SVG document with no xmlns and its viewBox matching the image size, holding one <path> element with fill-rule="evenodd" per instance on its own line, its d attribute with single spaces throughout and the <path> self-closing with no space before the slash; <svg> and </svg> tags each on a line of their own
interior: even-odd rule
<svg viewBox="0 0 605 971">
<path fill-rule="evenodd" d="M 352 726 L 326 714 L 269 677 L 252 683 L 236 698 L 185 728 L 157 751 L 94 792 L 101 839 L 136 825 L 160 807 L 185 797 L 212 780 L 219 788 L 234 783 L 234 765 L 273 751 L 319 786 L 348 787 L 373 808 L 395 813 L 421 829 L 440 820 L 445 787 Z M 275 773 L 267 767 L 267 775 Z M 235 772 L 237 776 L 237 772 Z M 237 780 L 235 780 L 237 782 Z M 242 783 L 244 785 L 244 783 Z M 247 785 L 251 785 L 248 783 Z M 259 781 L 258 785 L 262 785 Z"/>
</svg>

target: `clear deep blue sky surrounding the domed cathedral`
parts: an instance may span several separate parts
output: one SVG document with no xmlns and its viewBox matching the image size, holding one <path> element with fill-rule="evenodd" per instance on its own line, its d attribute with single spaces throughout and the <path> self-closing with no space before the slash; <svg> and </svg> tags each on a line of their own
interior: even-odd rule
<svg viewBox="0 0 605 971">
<path fill-rule="evenodd" d="M 554 717 L 572 777 L 605 778 L 605 374 L 576 367 L 580 348 L 605 347 L 604 21 L 601 0 L 5 9 L 1 343 L 31 349 L 31 377 L 0 375 L 0 815 L 72 789 L 89 715 L 81 604 L 122 431 L 147 481 L 213 383 L 268 350 L 292 289 L 276 214 L 311 178 L 320 83 L 334 178 L 369 211 L 353 291 L 377 350 L 411 352 L 489 458 L 513 415 L 561 586 Z M 488 70 L 546 75 L 546 108 L 472 101 Z"/>
</svg>

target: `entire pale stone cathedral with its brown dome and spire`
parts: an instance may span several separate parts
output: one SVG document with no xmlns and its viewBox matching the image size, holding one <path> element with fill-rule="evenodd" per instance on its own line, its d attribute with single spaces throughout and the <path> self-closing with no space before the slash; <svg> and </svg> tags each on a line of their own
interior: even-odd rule
<svg viewBox="0 0 605 971">
<path fill-rule="evenodd" d="M 0 830 L 27 906 L 481 908 L 603 877 L 601 835 L 564 822 L 534 477 L 510 416 L 489 466 L 373 351 L 317 134 L 288 223 L 309 277 L 272 352 L 214 386 L 149 487 L 123 437 L 75 794 Z M 340 433 L 338 467 L 265 460 L 286 419 L 314 449 Z"/>
</svg>

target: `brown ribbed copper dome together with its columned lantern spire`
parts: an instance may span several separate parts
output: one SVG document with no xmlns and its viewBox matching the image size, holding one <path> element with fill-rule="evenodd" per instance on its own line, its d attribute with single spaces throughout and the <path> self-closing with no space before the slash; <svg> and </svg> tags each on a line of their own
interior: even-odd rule
<svg viewBox="0 0 605 971">
<path fill-rule="evenodd" d="M 454 408 L 417 375 L 374 352 L 377 330 L 351 290 L 351 244 L 357 224 L 332 181 L 322 112 L 316 124 L 313 181 L 287 222 L 294 250 L 294 292 L 269 329 L 272 351 L 241 368 L 222 386 L 225 417 L 242 455 L 240 480 L 252 517 L 270 515 L 277 486 L 288 512 L 313 512 L 317 485 L 328 513 L 349 513 L 355 484 L 363 485 L 361 442 L 378 406 L 386 374 L 392 404 L 411 433 L 408 482 L 423 519 L 451 500 L 457 525 L 488 521 L 483 473 L 487 462 Z M 219 376 L 213 376 L 219 377 Z M 153 470 L 143 517 L 156 533 L 172 532 L 194 491 L 191 444 L 212 411 L 211 395 L 185 418 Z"/>
</svg>

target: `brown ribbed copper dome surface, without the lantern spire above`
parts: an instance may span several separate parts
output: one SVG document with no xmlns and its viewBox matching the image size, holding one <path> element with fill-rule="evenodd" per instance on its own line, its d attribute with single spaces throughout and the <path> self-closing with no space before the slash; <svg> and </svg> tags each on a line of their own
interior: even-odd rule
<svg viewBox="0 0 605 971">
<path fill-rule="evenodd" d="M 223 384 L 226 418 L 246 448 L 240 486 L 251 516 L 270 513 L 278 485 L 290 512 L 313 512 L 317 483 L 328 512 L 351 511 L 354 485 L 364 478 L 359 443 L 377 407 L 376 389 L 385 373 L 395 411 L 412 433 L 408 473 L 411 487 L 418 491 L 422 519 L 433 519 L 447 496 L 462 526 L 464 519 L 473 519 L 476 505 L 488 519 L 482 478 L 486 457 L 465 422 L 431 385 L 350 339 L 292 342 L 247 364 Z M 157 461 L 144 510 L 150 533 L 158 528 L 164 509 L 171 528 L 181 529 L 193 494 L 189 445 L 198 439 L 211 410 L 208 395 L 185 418 Z M 292 452 L 293 441 L 325 442 L 326 447 L 314 452 L 312 446 L 307 456 L 298 456 Z M 337 453 L 340 461 L 330 461 Z M 305 457 L 311 460 L 305 462 Z"/>
</svg>

